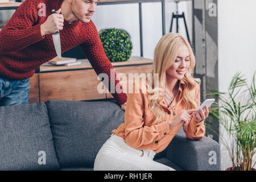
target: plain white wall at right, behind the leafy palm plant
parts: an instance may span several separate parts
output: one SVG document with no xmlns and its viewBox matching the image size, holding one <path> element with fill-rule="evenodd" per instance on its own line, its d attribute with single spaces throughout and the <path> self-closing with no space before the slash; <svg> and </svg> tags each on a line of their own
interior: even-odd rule
<svg viewBox="0 0 256 182">
<path fill-rule="evenodd" d="M 218 1 L 218 89 L 227 92 L 241 71 L 251 83 L 256 71 L 256 1 Z M 222 169 L 232 166 L 221 143 Z"/>
</svg>

